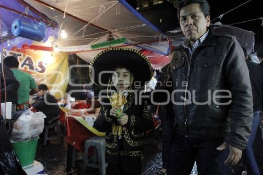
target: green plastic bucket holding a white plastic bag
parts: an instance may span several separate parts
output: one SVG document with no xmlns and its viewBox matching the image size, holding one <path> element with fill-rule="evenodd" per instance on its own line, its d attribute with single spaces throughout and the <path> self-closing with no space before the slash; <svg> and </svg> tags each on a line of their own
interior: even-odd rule
<svg viewBox="0 0 263 175">
<path fill-rule="evenodd" d="M 33 164 L 37 152 L 37 142 L 39 137 L 34 140 L 12 142 L 15 153 L 22 167 Z"/>
</svg>

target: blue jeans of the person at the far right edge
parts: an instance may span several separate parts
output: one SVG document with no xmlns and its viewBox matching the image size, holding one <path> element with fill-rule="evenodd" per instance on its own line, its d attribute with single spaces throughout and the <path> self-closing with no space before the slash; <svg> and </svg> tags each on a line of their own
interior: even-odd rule
<svg viewBox="0 0 263 175">
<path fill-rule="evenodd" d="M 254 111 L 254 118 L 252 122 L 252 132 L 248 139 L 247 147 L 243 152 L 243 156 L 244 156 L 243 160 L 246 165 L 247 172 L 248 174 L 253 174 L 253 175 L 260 175 L 260 172 L 257 166 L 257 162 L 254 156 L 254 152 L 253 152 L 253 147 L 252 147 L 254 139 L 257 134 L 257 128 L 259 125 L 259 114 L 260 114 L 260 111 Z"/>
</svg>

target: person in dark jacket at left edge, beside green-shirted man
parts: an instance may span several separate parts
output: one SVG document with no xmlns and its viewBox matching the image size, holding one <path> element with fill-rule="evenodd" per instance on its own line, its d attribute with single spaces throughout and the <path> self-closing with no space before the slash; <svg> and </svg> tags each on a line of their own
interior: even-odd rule
<svg viewBox="0 0 263 175">
<path fill-rule="evenodd" d="M 1 78 L 1 103 L 5 102 L 5 92 L 6 92 L 6 102 L 12 102 L 12 114 L 11 117 L 15 115 L 16 111 L 16 103 L 18 100 L 18 89 L 19 89 L 19 82 L 15 78 L 13 72 L 3 65 L 2 71 L 2 64 L 0 63 L 0 78 Z M 5 83 L 6 83 L 6 90 L 5 84 L 3 79 L 3 73 L 5 76 Z"/>
</svg>

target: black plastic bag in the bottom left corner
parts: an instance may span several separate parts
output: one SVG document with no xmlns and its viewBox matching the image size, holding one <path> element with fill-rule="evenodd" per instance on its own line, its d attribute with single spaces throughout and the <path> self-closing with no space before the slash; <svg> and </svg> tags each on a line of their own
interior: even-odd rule
<svg viewBox="0 0 263 175">
<path fill-rule="evenodd" d="M 15 151 L 10 143 L 5 123 L 0 117 L 0 174 L 1 175 L 27 175 L 22 169 Z"/>
</svg>

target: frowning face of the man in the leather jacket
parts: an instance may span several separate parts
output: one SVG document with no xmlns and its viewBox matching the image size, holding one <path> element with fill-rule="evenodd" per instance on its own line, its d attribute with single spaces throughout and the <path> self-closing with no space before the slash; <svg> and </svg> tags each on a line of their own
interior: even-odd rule
<svg viewBox="0 0 263 175">
<path fill-rule="evenodd" d="M 183 35 L 192 42 L 203 36 L 210 25 L 210 16 L 200 10 L 200 4 L 193 3 L 181 8 L 180 27 Z"/>
</svg>

